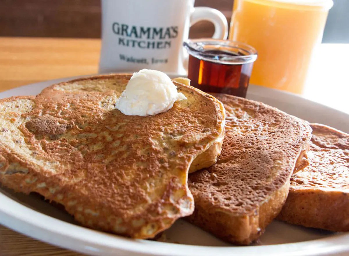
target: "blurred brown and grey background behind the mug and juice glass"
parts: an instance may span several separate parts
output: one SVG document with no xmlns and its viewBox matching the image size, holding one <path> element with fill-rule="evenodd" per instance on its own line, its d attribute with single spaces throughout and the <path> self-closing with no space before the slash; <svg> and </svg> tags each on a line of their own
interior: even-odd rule
<svg viewBox="0 0 349 256">
<path fill-rule="evenodd" d="M 349 0 L 334 2 L 323 42 L 349 43 Z M 230 23 L 233 0 L 196 0 L 195 6 L 216 8 Z M 199 22 L 190 37 L 210 37 L 213 31 L 210 22 Z M 0 36 L 98 38 L 100 0 L 0 0 Z"/>
</svg>

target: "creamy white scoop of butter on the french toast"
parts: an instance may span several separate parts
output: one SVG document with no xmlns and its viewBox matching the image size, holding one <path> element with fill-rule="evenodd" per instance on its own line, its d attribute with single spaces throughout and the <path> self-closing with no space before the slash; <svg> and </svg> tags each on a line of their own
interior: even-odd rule
<svg viewBox="0 0 349 256">
<path fill-rule="evenodd" d="M 156 115 L 168 111 L 174 102 L 186 99 L 165 73 L 142 69 L 133 73 L 115 108 L 125 115 Z"/>
</svg>

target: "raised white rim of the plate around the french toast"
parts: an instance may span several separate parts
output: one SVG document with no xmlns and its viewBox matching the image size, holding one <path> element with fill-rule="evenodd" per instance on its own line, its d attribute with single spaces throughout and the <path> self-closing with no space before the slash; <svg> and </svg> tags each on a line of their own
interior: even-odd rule
<svg viewBox="0 0 349 256">
<path fill-rule="evenodd" d="M 127 72 L 118 72 L 127 73 Z M 129 73 L 129 72 L 128 72 Z M 94 74 L 97 75 L 97 74 Z M 90 76 L 94 76 L 90 75 Z M 172 77 L 176 77 L 177 74 L 169 74 Z M 22 87 L 31 86 L 49 86 L 51 84 L 59 83 L 62 81 L 72 80 L 85 76 L 66 77 L 60 79 L 53 79 L 47 81 L 41 81 L 38 83 L 23 85 L 15 87 L 13 89 L 0 92 L 0 95 L 4 92 L 11 92 L 13 90 L 21 90 Z M 251 85 L 250 85 L 251 86 Z M 251 86 L 252 93 L 255 91 L 269 91 L 273 94 L 287 94 L 288 98 L 302 99 L 308 101 L 310 104 L 322 106 L 331 111 L 335 111 L 349 116 L 347 113 L 338 109 L 334 109 L 329 106 L 325 106 L 318 102 L 303 98 L 299 95 L 283 92 L 271 88 Z M 1 96 L 0 96 L 1 97 Z M 294 100 L 291 100 L 294 102 Z M 289 101 L 290 102 L 290 101 Z M 6 207 L 2 207 L 6 206 Z M 30 214 L 27 214 L 30 213 Z M 48 223 L 50 222 L 50 223 Z M 339 254 L 349 252 L 349 244 L 345 244 L 349 240 L 349 233 L 339 233 L 330 237 L 324 237 L 321 239 L 315 239 L 310 241 L 296 242 L 296 243 L 284 243 L 274 245 L 262 245 L 262 246 L 250 246 L 250 247 L 220 247 L 220 246 L 195 246 L 186 244 L 172 244 L 162 243 L 156 241 L 146 240 L 134 240 L 128 239 L 122 236 L 109 234 L 105 232 L 99 232 L 82 226 L 77 226 L 72 223 L 68 223 L 49 215 L 30 209 L 27 206 L 16 202 L 15 200 L 7 197 L 7 195 L 0 192 L 0 223 L 10 229 L 14 229 L 17 232 L 33 237 L 40 241 L 53 244 L 58 247 L 64 247 L 70 250 L 79 251 L 81 253 L 96 254 L 96 255 L 114 255 L 117 253 L 136 253 L 138 255 L 211 255 L 213 253 L 220 253 L 220 255 L 237 253 L 237 254 L 251 254 L 258 253 L 260 255 L 279 255 L 283 254 L 299 254 L 299 255 L 328 255 Z M 66 229 L 65 229 L 66 228 Z M 39 232 L 33 233 L 34 229 L 39 229 Z M 73 230 L 73 231 L 72 231 Z M 45 234 L 46 232 L 46 234 Z M 83 234 L 77 235 L 76 234 Z M 53 237 L 53 240 L 50 239 Z M 52 237 L 51 237 L 52 238 Z M 63 239 L 64 238 L 64 239 Z M 101 238 L 101 239 L 96 239 Z M 154 246 L 156 244 L 156 246 Z M 174 250 L 169 251 L 169 248 Z M 292 250 L 290 250 L 290 248 Z M 181 254 L 179 254 L 181 253 Z"/>
</svg>

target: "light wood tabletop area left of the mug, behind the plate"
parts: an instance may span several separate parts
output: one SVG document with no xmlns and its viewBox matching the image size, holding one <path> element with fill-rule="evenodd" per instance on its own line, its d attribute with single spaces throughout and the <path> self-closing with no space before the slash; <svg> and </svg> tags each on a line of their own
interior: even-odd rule
<svg viewBox="0 0 349 256">
<path fill-rule="evenodd" d="M 0 37 L 0 91 L 38 81 L 95 74 L 99 39 Z"/>
</svg>

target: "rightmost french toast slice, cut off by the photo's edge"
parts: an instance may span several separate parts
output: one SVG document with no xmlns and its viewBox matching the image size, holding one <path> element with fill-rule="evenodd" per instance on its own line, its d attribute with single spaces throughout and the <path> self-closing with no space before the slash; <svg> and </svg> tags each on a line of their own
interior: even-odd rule
<svg viewBox="0 0 349 256">
<path fill-rule="evenodd" d="M 277 219 L 335 232 L 349 231 L 349 134 L 312 123 L 310 165 L 291 177 Z"/>
</svg>

